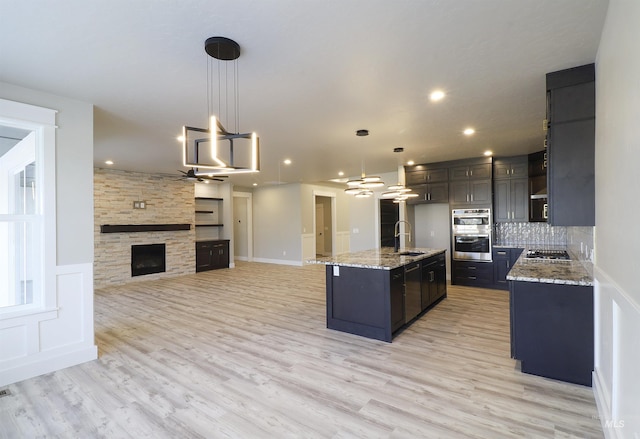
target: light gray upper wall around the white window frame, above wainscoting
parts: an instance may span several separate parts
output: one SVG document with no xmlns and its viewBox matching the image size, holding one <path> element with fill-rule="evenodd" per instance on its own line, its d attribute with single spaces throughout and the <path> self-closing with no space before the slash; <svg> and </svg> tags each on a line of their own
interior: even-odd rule
<svg viewBox="0 0 640 439">
<path fill-rule="evenodd" d="M 93 261 L 93 105 L 0 82 L 0 97 L 58 110 L 57 264 Z"/>
</svg>

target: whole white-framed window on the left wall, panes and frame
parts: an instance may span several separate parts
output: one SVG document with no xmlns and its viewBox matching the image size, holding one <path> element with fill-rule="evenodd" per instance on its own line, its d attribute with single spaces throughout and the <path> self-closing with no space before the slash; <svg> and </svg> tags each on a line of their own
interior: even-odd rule
<svg viewBox="0 0 640 439">
<path fill-rule="evenodd" d="M 0 99 L 1 315 L 55 305 L 54 120 Z"/>
</svg>

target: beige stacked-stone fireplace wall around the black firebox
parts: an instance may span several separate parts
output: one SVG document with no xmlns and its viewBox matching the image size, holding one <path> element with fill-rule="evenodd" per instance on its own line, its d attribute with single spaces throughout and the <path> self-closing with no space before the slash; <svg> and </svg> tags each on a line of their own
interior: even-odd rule
<svg viewBox="0 0 640 439">
<path fill-rule="evenodd" d="M 135 209 L 145 201 L 145 209 Z M 94 169 L 94 286 L 195 273 L 194 185 L 175 177 Z M 109 225 L 109 228 L 101 226 Z M 143 230 L 115 228 L 142 225 Z M 148 225 L 181 225 L 148 229 Z M 105 231 L 102 233 L 102 231 Z M 132 275 L 132 246 L 164 246 L 164 270 Z M 155 263 L 153 263 L 155 264 Z"/>
</svg>

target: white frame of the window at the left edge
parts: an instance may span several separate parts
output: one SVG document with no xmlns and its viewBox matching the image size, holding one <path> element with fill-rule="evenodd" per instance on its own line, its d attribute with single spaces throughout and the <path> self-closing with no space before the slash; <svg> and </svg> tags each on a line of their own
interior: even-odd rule
<svg viewBox="0 0 640 439">
<path fill-rule="evenodd" d="M 56 111 L 0 99 L 0 124 L 33 131 L 36 136 L 37 221 L 40 235 L 39 286 L 32 303 L 0 308 L 0 320 L 53 311 L 56 297 Z M 3 215 L 5 216 L 5 215 Z M 11 220 L 11 215 L 6 216 Z"/>
</svg>

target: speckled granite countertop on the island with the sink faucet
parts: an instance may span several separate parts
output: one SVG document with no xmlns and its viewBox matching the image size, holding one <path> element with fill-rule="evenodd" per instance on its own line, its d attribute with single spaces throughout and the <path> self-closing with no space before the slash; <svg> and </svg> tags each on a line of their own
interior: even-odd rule
<svg viewBox="0 0 640 439">
<path fill-rule="evenodd" d="M 319 257 L 307 261 L 309 264 L 339 265 L 342 267 L 371 268 L 375 270 L 393 270 L 411 262 L 444 253 L 445 249 L 407 247 L 398 253 L 391 247 L 344 253 L 337 256 Z M 402 256 L 402 252 L 419 252 L 419 255 Z"/>
</svg>

